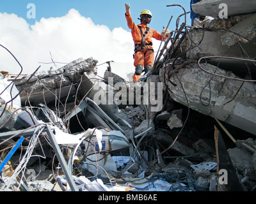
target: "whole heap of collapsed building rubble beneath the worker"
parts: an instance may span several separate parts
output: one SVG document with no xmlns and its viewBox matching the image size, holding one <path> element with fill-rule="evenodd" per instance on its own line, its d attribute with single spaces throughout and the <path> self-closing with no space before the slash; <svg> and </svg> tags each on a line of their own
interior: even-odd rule
<svg viewBox="0 0 256 204">
<path fill-rule="evenodd" d="M 2 77 L 1 191 L 255 191 L 255 18 L 228 36 L 252 16 L 177 26 L 141 82 L 93 58 Z"/>
</svg>

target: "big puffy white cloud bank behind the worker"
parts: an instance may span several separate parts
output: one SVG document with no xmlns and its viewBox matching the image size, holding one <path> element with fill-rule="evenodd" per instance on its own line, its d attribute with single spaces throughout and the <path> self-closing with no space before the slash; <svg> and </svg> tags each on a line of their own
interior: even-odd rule
<svg viewBox="0 0 256 204">
<path fill-rule="evenodd" d="M 95 25 L 91 18 L 81 16 L 74 9 L 63 17 L 42 18 L 31 27 L 15 14 L 0 13 L 0 27 L 0 44 L 15 55 L 23 67 L 22 74 L 31 74 L 38 66 L 41 66 L 40 71 L 54 66 L 39 63 L 51 62 L 49 52 L 56 62 L 93 57 L 98 64 L 106 61 L 133 63 L 131 33 L 122 27 L 111 31 L 106 25 Z M 157 43 L 154 47 L 157 51 Z M 20 66 L 0 47 L 1 70 L 17 74 Z"/>
</svg>

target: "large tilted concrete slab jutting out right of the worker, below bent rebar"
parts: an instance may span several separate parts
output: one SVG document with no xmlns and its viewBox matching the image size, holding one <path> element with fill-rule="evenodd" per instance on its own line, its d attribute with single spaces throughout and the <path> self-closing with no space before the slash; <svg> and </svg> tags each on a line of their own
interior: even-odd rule
<svg viewBox="0 0 256 204">
<path fill-rule="evenodd" d="M 256 85 L 211 76 L 202 71 L 198 64 L 191 65 L 193 65 L 192 69 L 180 69 L 177 77 L 171 76 L 170 79 L 165 80 L 171 98 L 197 112 L 256 135 Z M 212 73 L 217 70 L 211 64 L 202 64 L 202 67 L 211 70 Z M 223 69 L 218 69 L 218 74 L 237 78 L 236 75 Z M 160 69 L 159 75 L 164 82 L 164 69 Z"/>
</svg>

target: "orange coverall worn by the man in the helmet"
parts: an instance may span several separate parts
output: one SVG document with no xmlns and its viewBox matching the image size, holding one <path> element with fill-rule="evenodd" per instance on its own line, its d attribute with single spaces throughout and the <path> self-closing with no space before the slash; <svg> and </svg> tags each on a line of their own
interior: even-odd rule
<svg viewBox="0 0 256 204">
<path fill-rule="evenodd" d="M 141 26 L 142 33 L 145 33 L 148 26 L 143 25 L 143 24 L 139 24 L 139 25 L 134 24 L 131 15 L 128 15 L 127 13 L 125 13 L 125 18 L 127 20 L 127 25 L 129 27 L 129 29 L 131 29 L 134 45 L 140 44 L 141 40 L 142 40 L 142 36 L 141 36 L 141 32 L 140 32 L 140 29 L 138 26 Z M 167 37 L 168 37 L 168 35 L 166 35 L 166 38 Z M 145 43 L 152 43 L 152 38 L 155 38 L 156 40 L 162 40 L 163 34 L 160 34 L 157 31 L 155 31 L 154 29 L 150 28 L 148 30 L 148 33 L 145 36 Z M 153 63 L 154 63 L 154 51 L 152 50 L 153 47 L 152 47 L 152 45 L 147 45 L 147 47 L 148 47 L 148 51 L 146 50 L 146 48 L 143 48 L 143 52 L 136 52 L 134 54 L 134 66 L 135 67 L 138 64 L 140 64 L 142 67 L 145 67 L 146 65 L 150 65 L 151 67 L 153 66 Z M 138 50 L 141 50 L 141 46 L 138 47 Z M 135 76 L 135 77 L 137 77 L 137 76 Z M 141 75 L 138 77 L 134 81 L 138 81 L 138 79 L 141 78 Z"/>
</svg>

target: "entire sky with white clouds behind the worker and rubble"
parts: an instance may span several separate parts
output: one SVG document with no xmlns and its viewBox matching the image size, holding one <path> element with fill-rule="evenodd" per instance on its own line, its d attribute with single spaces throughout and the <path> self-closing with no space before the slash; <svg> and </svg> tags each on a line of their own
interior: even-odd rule
<svg viewBox="0 0 256 204">
<path fill-rule="evenodd" d="M 27 16 L 30 3 L 35 4 L 35 19 Z M 93 57 L 98 64 L 125 62 L 131 64 L 134 71 L 134 43 L 125 19 L 125 3 L 130 4 L 136 24 L 140 23 L 141 11 L 150 10 L 153 17 L 149 27 L 159 33 L 172 16 L 168 29 L 175 30 L 177 17 L 184 13 L 179 6 L 166 5 L 180 4 L 187 12 L 190 10 L 190 0 L 1 0 L 0 44 L 17 57 L 24 67 L 22 74 L 33 73 L 38 66 L 40 71 L 48 70 L 52 66 L 48 64 L 51 55 L 55 62 L 65 63 L 80 57 Z M 184 17 L 180 22 L 184 22 Z M 187 15 L 187 24 L 191 24 L 190 15 Z M 155 50 L 159 45 L 160 41 L 153 40 Z M 6 70 L 13 74 L 20 72 L 13 57 L 0 48 L 0 71 Z M 99 71 L 104 68 L 99 67 Z"/>
</svg>

